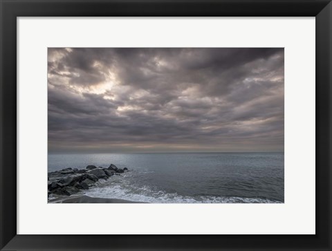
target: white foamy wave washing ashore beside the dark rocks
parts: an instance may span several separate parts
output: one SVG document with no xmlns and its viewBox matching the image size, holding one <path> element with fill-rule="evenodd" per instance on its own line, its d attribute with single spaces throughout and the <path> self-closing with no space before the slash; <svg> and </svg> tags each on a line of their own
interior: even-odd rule
<svg viewBox="0 0 332 251">
<path fill-rule="evenodd" d="M 238 196 L 183 196 L 177 193 L 156 191 L 148 186 L 109 184 L 102 182 L 86 192 L 97 198 L 120 198 L 142 203 L 282 203 L 267 198 L 242 198 Z"/>
</svg>

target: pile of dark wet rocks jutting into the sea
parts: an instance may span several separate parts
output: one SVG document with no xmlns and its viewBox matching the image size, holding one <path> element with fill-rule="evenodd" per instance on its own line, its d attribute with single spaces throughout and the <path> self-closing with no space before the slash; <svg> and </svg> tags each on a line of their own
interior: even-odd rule
<svg viewBox="0 0 332 251">
<path fill-rule="evenodd" d="M 48 197 L 51 194 L 71 196 L 81 190 L 93 187 L 100 179 L 107 180 L 113 175 L 120 175 L 126 171 L 128 171 L 127 167 L 120 169 L 113 164 L 109 167 L 88 165 L 85 169 L 69 167 L 59 171 L 51 171 L 48 172 Z"/>
</svg>

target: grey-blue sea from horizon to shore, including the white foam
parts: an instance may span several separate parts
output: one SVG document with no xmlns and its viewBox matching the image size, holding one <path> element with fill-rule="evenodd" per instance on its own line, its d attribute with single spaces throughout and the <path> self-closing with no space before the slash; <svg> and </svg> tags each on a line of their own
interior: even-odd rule
<svg viewBox="0 0 332 251">
<path fill-rule="evenodd" d="M 145 203 L 284 203 L 284 153 L 48 154 L 48 171 L 110 164 L 129 171 L 82 193 Z"/>
</svg>

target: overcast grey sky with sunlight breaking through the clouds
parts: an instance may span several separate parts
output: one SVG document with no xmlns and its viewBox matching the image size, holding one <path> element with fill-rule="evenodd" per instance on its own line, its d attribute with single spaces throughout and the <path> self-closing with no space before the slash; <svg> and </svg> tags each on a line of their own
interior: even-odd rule
<svg viewBox="0 0 332 251">
<path fill-rule="evenodd" d="M 284 151 L 284 49 L 48 48 L 48 151 Z"/>
</svg>

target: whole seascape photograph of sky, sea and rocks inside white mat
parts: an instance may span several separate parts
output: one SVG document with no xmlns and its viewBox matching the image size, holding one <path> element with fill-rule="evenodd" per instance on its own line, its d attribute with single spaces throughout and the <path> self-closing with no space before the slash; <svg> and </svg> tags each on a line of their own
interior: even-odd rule
<svg viewBox="0 0 332 251">
<path fill-rule="evenodd" d="M 47 48 L 47 98 L 48 203 L 284 203 L 284 48 Z"/>
</svg>

